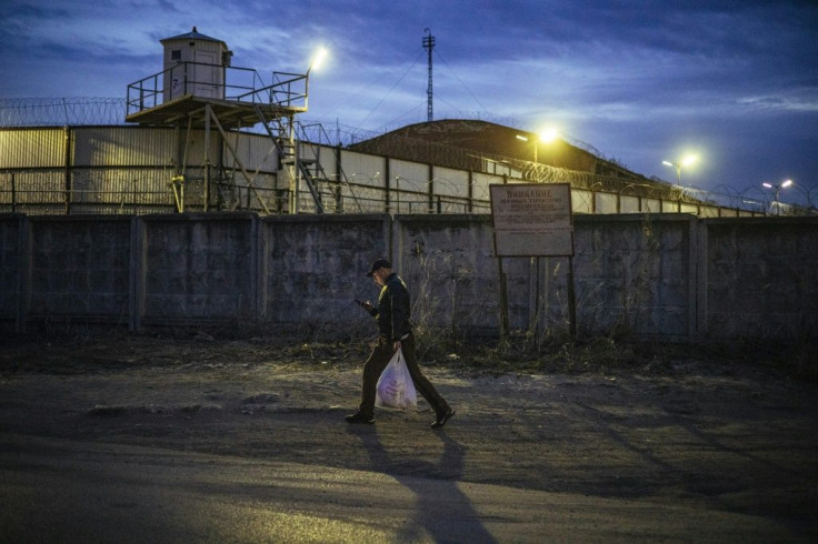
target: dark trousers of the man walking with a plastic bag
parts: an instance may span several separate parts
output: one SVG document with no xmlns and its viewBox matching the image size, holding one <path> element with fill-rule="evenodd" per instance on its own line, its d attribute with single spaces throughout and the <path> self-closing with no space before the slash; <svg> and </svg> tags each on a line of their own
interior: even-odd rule
<svg viewBox="0 0 818 544">
<path fill-rule="evenodd" d="M 406 361 L 407 369 L 409 369 L 409 375 L 412 376 L 415 389 L 426 399 L 435 411 L 435 414 L 445 413 L 449 410 L 449 405 L 438 394 L 435 386 L 426 379 L 418 366 L 418 360 L 415 356 L 415 335 L 409 333 L 409 336 L 400 341 L 400 345 L 403 350 L 403 360 Z M 379 338 L 378 343 L 372 347 L 372 353 L 370 353 L 369 359 L 363 364 L 363 386 L 361 389 L 361 404 L 358 409 L 361 414 L 370 417 L 373 415 L 378 379 L 383 372 L 383 369 L 389 364 L 392 355 L 395 355 L 395 342 L 383 336 Z"/>
</svg>

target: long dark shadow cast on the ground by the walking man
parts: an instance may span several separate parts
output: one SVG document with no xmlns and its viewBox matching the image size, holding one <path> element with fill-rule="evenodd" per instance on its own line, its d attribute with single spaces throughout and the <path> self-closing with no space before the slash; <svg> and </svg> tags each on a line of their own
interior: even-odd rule
<svg viewBox="0 0 818 544">
<path fill-rule="evenodd" d="M 381 444 L 376 426 L 350 425 L 349 433 L 360 439 L 373 471 L 388 474 L 415 493 L 416 506 L 408 512 L 407 523 L 398 533 L 400 542 L 420 540 L 426 533 L 435 542 L 497 542 L 483 527 L 471 501 L 458 487 L 463 473 L 465 449 L 443 431 L 436 432 L 443 443 L 440 461 L 437 464 L 412 463 L 412 472 L 422 476 L 407 474 L 406 467 L 401 471 L 401 465 Z M 435 476 L 427 476 L 429 474 Z"/>
</svg>

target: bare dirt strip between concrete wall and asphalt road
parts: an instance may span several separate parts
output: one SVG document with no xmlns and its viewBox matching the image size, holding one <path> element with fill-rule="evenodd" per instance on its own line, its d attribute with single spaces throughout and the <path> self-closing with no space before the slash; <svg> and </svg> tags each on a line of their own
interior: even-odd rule
<svg viewBox="0 0 818 544">
<path fill-rule="evenodd" d="M 664 375 L 428 376 L 457 409 L 350 427 L 363 354 L 129 338 L 0 349 L 0 429 L 755 516 L 818 537 L 815 384 L 758 365 Z M 657 523 L 660 523 L 657 521 Z M 685 540 L 685 534 L 679 534 Z"/>
</svg>

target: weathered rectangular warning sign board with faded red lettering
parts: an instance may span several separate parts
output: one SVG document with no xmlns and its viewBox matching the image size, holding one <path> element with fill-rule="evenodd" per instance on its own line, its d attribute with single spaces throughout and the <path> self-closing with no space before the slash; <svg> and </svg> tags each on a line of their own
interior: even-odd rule
<svg viewBox="0 0 818 544">
<path fill-rule="evenodd" d="M 569 183 L 489 185 L 497 256 L 572 256 Z"/>
</svg>

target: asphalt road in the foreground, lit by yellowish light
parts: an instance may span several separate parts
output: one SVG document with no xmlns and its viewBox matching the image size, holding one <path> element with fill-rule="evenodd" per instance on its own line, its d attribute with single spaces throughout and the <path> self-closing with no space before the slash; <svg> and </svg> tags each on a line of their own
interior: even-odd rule
<svg viewBox="0 0 818 544">
<path fill-rule="evenodd" d="M 765 517 L 647 500 L 10 434 L 0 482 L 0 540 L 16 543 L 799 542 Z"/>
</svg>

